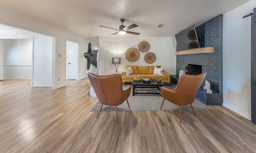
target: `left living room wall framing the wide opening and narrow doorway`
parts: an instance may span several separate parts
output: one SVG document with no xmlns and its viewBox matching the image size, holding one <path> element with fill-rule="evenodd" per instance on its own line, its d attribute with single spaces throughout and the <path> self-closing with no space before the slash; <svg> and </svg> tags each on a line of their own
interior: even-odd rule
<svg viewBox="0 0 256 153">
<path fill-rule="evenodd" d="M 86 58 L 82 55 L 88 50 L 89 40 L 81 38 L 75 34 L 70 34 L 53 26 L 49 26 L 34 19 L 27 18 L 10 10 L 0 7 L 0 24 L 30 30 L 47 36 L 52 36 L 52 89 L 58 89 L 66 85 L 66 41 L 79 44 L 79 79 L 87 77 L 88 72 L 96 73 L 97 69 L 86 70 Z M 97 44 L 97 43 L 95 43 Z M 42 43 L 43 45 L 43 43 Z M 97 46 L 98 47 L 98 46 Z M 94 49 L 94 43 L 92 43 Z M 60 54 L 61 57 L 58 57 Z M 84 64 L 84 65 L 83 65 Z M 81 67 L 80 67 L 81 66 Z M 91 66 L 93 67 L 93 66 Z M 58 81 L 60 78 L 60 81 Z"/>
</svg>

